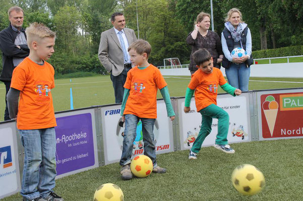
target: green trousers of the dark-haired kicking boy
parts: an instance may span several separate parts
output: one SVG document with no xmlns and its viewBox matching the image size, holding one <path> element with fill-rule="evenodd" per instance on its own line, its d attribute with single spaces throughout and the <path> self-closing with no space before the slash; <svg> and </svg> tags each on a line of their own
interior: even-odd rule
<svg viewBox="0 0 303 201">
<path fill-rule="evenodd" d="M 229 116 L 222 108 L 212 104 L 199 111 L 202 115 L 202 125 L 197 139 L 195 140 L 192 152 L 199 153 L 202 143 L 211 132 L 213 118 L 218 119 L 218 134 L 216 144 L 226 145 L 229 128 Z"/>
</svg>

